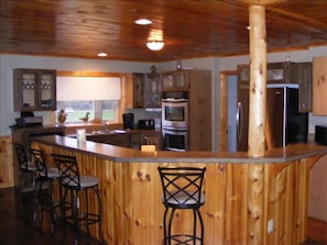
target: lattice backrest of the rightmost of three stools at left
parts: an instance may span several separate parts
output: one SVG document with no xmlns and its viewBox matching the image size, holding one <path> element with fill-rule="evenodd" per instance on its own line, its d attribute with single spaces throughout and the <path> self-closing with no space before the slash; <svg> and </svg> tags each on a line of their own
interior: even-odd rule
<svg viewBox="0 0 327 245">
<path fill-rule="evenodd" d="M 68 189 L 80 189 L 80 178 L 75 156 L 51 154 L 59 171 L 61 185 Z"/>
</svg>

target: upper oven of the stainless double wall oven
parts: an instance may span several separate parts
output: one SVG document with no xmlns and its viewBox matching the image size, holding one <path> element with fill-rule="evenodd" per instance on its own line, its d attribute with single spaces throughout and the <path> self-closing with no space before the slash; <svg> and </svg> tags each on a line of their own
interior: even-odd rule
<svg viewBox="0 0 327 245">
<path fill-rule="evenodd" d="M 188 127 L 187 99 L 166 98 L 162 100 L 162 127 L 164 129 L 187 129 Z"/>
</svg>

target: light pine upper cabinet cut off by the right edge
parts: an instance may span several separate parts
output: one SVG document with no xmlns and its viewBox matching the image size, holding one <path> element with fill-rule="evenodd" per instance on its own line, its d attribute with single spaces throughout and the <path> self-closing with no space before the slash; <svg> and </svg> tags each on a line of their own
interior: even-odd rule
<svg viewBox="0 0 327 245">
<path fill-rule="evenodd" d="M 327 115 L 327 56 L 313 59 L 313 114 Z"/>
</svg>

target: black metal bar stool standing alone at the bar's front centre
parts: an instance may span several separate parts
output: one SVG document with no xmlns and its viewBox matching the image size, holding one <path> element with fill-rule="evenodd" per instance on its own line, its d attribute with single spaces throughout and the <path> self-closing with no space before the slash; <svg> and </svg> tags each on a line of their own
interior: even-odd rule
<svg viewBox="0 0 327 245">
<path fill-rule="evenodd" d="M 196 167 L 159 167 L 163 188 L 163 204 L 165 207 L 163 226 L 164 243 L 171 244 L 204 244 L 204 223 L 199 208 L 205 203 L 201 191 L 206 168 Z M 172 234 L 174 213 L 176 210 L 193 211 L 193 233 Z M 200 227 L 197 227 L 199 221 Z M 189 233 L 189 232 L 188 232 Z"/>
</svg>

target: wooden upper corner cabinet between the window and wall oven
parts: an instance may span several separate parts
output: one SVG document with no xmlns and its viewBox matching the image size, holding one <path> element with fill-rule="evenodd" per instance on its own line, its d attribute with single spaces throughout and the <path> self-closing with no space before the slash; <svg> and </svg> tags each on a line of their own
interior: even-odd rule
<svg viewBox="0 0 327 245">
<path fill-rule="evenodd" d="M 133 108 L 160 108 L 161 91 L 159 75 L 133 74 Z"/>
</svg>

